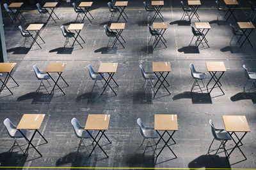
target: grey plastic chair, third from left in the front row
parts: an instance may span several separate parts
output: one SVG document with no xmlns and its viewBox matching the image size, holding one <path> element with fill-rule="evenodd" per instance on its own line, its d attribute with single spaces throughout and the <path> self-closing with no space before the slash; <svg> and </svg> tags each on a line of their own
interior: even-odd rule
<svg viewBox="0 0 256 170">
<path fill-rule="evenodd" d="M 140 127 L 141 136 L 143 136 L 143 141 L 142 141 L 141 145 L 143 145 L 145 139 L 147 139 L 148 143 L 150 144 L 150 146 L 154 150 L 154 153 L 156 153 L 156 150 L 154 149 L 152 143 L 150 142 L 150 139 L 153 139 L 154 142 L 156 143 L 155 139 L 160 138 L 160 137 L 157 134 L 157 132 L 154 130 L 154 127 L 145 127 L 145 125 L 143 125 L 143 122 L 142 122 L 141 118 L 137 119 L 137 124 Z M 147 143 L 147 146 L 146 146 L 146 148 L 144 150 L 144 153 L 145 153 L 145 151 L 146 151 L 146 149 L 148 147 L 148 143 Z"/>
</svg>

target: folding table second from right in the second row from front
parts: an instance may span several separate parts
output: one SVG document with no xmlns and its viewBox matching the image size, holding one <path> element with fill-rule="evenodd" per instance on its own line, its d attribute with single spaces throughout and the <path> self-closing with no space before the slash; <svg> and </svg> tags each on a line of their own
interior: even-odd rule
<svg viewBox="0 0 256 170">
<path fill-rule="evenodd" d="M 156 96 L 158 90 L 160 89 L 160 87 L 162 85 L 164 86 L 164 88 L 167 90 L 167 92 L 170 95 L 171 93 L 169 92 L 169 90 L 164 85 L 164 81 L 168 84 L 168 86 L 170 86 L 169 83 L 166 81 L 166 77 L 172 71 L 171 63 L 170 62 L 152 62 L 152 65 L 153 65 L 153 72 L 157 76 L 157 81 L 156 81 L 156 84 L 154 85 L 154 87 L 156 87 L 158 81 L 160 81 L 160 85 L 159 85 L 158 89 L 156 90 L 156 93 L 155 93 L 154 97 Z M 157 75 L 157 73 L 159 73 L 160 75 Z M 164 76 L 164 73 L 166 73 L 165 76 Z M 161 78 L 163 78 L 163 80 L 161 80 Z"/>
</svg>

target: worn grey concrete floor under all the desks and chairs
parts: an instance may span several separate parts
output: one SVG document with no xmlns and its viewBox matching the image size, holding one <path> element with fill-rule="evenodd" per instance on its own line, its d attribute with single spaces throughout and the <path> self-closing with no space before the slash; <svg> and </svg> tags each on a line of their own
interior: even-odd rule
<svg viewBox="0 0 256 170">
<path fill-rule="evenodd" d="M 223 3 L 221 1 L 221 3 Z M 235 11 L 239 21 L 247 21 L 250 15 L 248 1 L 239 1 L 241 6 Z M 44 3 L 42 3 L 44 4 Z M 218 11 L 214 8 L 214 1 L 202 2 L 198 10 L 202 22 L 210 22 L 212 29 L 207 34 L 210 48 L 189 46 L 192 38 L 189 22 L 180 21 L 182 10 L 179 1 L 164 1 L 162 10 L 164 22 L 168 23 L 168 30 L 164 37 L 167 40 L 163 45 L 157 46 L 152 52 L 152 46 L 148 44 L 150 33 L 147 27 L 147 13 L 143 9 L 142 1 L 129 1 L 127 7 L 128 23 L 122 34 L 126 43 L 125 48 L 117 45 L 116 48 L 108 48 L 109 38 L 106 36 L 103 25 L 109 24 L 109 11 L 106 2 L 95 1 L 91 11 L 94 20 L 88 24 L 84 21 L 81 31 L 85 43 L 83 49 L 78 45 L 72 48 L 63 48 L 65 38 L 60 30 L 60 25 L 68 25 L 75 22 L 76 13 L 70 3 L 60 3 L 56 8 L 56 14 L 60 20 L 55 24 L 50 20 L 42 29 L 41 36 L 45 40 L 42 50 L 34 45 L 29 49 L 27 44 L 23 46 L 24 38 L 18 30 L 19 22 L 10 24 L 8 16 L 3 12 L 4 30 L 6 36 L 6 48 L 8 61 L 17 62 L 13 71 L 13 78 L 19 83 L 10 80 L 13 96 L 8 90 L 0 94 L 0 122 L 10 118 L 13 124 L 19 124 L 24 113 L 45 113 L 44 122 L 40 132 L 49 141 L 45 145 L 38 146 L 43 157 L 31 148 L 28 155 L 23 156 L 19 150 L 14 150 L 12 155 L 8 152 L 12 146 L 13 139 L 9 138 L 3 124 L 0 126 L 0 164 L 2 167 L 164 167 L 164 168 L 255 168 L 256 167 L 256 117 L 255 117 L 255 90 L 243 93 L 243 85 L 246 76 L 243 64 L 250 71 L 255 70 L 255 48 L 250 48 L 245 43 L 243 48 L 238 45 L 230 46 L 232 31 L 229 24 L 236 27 L 232 18 L 228 22 L 216 20 Z M 40 15 L 33 6 L 25 6 L 23 14 L 26 21 L 22 20 L 22 27 L 26 28 L 30 23 L 38 23 Z M 44 18 L 45 19 L 45 18 Z M 116 19 L 116 18 L 115 18 Z M 160 20 L 156 20 L 160 21 Z M 196 20 L 192 20 L 196 22 Z M 255 23 L 254 23 L 255 24 Z M 255 43 L 255 31 L 252 32 L 250 40 Z M 111 42 L 109 44 L 111 46 Z M 167 80 L 170 82 L 171 95 L 166 96 L 166 90 L 161 89 L 155 99 L 153 92 L 146 92 L 141 88 L 143 78 L 139 64 L 143 64 L 148 71 L 152 70 L 152 61 L 170 61 L 172 73 Z M 221 83 L 225 92 L 214 89 L 211 96 L 201 94 L 198 89 L 189 93 L 193 79 L 190 75 L 189 64 L 193 62 L 198 71 L 207 73 L 205 61 L 223 61 L 227 72 L 223 74 Z M 70 87 L 60 81 L 61 87 L 66 95 L 56 90 L 53 96 L 48 96 L 44 90 L 36 93 L 40 81 L 36 80 L 32 66 L 38 65 L 45 70 L 50 62 L 67 62 L 63 77 Z M 100 62 L 118 62 L 118 71 L 115 80 L 119 87 L 115 88 L 117 96 L 107 90 L 104 95 L 95 88 L 92 92 L 93 80 L 90 79 L 86 66 L 92 64 L 97 71 Z M 207 73 L 207 81 L 210 74 Z M 53 82 L 52 82 L 53 83 Z M 100 142 L 108 153 L 104 153 L 97 147 L 91 157 L 86 150 L 77 153 L 79 139 L 76 138 L 70 120 L 76 117 L 81 125 L 84 125 L 88 114 L 110 114 L 109 130 L 106 132 L 108 141 L 102 138 Z M 173 139 L 176 145 L 170 146 L 177 155 L 177 159 L 168 149 L 164 149 L 158 159 L 150 148 L 143 154 L 145 146 L 140 146 L 143 138 L 136 119 L 141 118 L 145 125 L 154 127 L 155 114 L 177 114 L 179 131 L 175 132 Z M 235 150 L 230 159 L 225 159 L 223 152 L 216 157 L 208 155 L 207 151 L 212 141 L 209 120 L 212 119 L 216 127 L 224 128 L 222 115 L 245 115 L 251 132 L 243 139 L 241 149 L 246 154 L 247 160 L 239 150 Z M 241 134 L 239 134 L 241 135 Z M 19 139 L 20 143 L 26 143 Z M 40 136 L 35 136 L 35 145 L 44 143 Z M 86 141 L 88 145 L 89 141 Z M 163 145 L 163 143 L 161 143 Z M 160 146 L 161 146 L 160 145 Z M 218 148 L 215 142 L 212 148 Z M 232 148 L 232 141 L 227 143 L 227 148 Z M 92 146 L 89 147 L 92 150 Z M 159 152 L 159 150 L 157 150 Z M 211 153 L 212 154 L 212 153 Z M 26 168 L 24 168 L 26 169 Z"/>
</svg>

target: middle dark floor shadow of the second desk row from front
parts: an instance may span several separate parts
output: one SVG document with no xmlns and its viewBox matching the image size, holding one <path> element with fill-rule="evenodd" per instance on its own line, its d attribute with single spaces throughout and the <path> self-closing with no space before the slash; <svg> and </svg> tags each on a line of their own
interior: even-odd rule
<svg viewBox="0 0 256 170">
<path fill-rule="evenodd" d="M 136 92 L 136 94 L 132 96 L 132 102 L 133 104 L 152 104 L 153 97 L 153 92 L 144 92 L 143 89 L 143 92 Z"/>
</svg>

